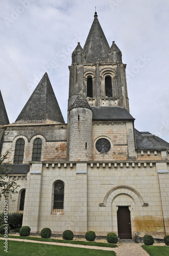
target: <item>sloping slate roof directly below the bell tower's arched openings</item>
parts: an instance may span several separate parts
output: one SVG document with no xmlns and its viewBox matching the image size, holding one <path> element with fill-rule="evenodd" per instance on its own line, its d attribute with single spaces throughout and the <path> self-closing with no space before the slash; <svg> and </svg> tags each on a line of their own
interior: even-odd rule
<svg viewBox="0 0 169 256">
<path fill-rule="evenodd" d="M 100 108 L 92 106 L 91 109 L 93 120 L 135 120 L 125 108 L 120 106 L 100 106 Z"/>
</svg>

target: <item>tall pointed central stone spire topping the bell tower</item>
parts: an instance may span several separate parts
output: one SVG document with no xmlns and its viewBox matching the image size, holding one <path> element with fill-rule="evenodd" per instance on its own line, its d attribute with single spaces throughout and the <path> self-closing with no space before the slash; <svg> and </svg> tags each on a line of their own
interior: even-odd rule
<svg viewBox="0 0 169 256">
<path fill-rule="evenodd" d="M 83 47 L 87 56 L 86 63 L 93 63 L 95 61 L 107 62 L 107 54 L 110 51 L 110 47 L 97 18 L 97 12 L 95 12 L 94 17 L 92 27 Z"/>
</svg>

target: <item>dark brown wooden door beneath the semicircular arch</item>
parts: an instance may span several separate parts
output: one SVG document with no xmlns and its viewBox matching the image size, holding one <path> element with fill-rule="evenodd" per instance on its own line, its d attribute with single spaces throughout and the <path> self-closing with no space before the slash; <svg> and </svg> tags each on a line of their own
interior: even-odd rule
<svg viewBox="0 0 169 256">
<path fill-rule="evenodd" d="M 131 237 L 131 219 L 128 206 L 119 206 L 118 212 L 118 235 L 120 239 L 132 239 Z"/>
</svg>

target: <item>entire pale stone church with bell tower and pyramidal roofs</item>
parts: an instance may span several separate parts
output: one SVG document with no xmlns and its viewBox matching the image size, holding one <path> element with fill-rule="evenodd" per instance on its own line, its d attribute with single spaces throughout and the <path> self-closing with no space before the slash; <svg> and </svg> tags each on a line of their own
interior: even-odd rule
<svg viewBox="0 0 169 256">
<path fill-rule="evenodd" d="M 95 12 L 72 53 L 67 123 L 47 73 L 14 123 L 0 95 L 1 154 L 9 151 L 8 180 L 19 185 L 9 212 L 23 212 L 31 232 L 169 234 L 169 144 L 134 128 L 125 69 Z"/>
</svg>

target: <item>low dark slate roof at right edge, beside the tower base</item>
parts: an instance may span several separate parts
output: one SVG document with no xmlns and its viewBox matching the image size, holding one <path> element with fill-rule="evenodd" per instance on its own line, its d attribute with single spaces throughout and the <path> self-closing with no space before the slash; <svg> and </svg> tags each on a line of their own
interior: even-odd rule
<svg viewBox="0 0 169 256">
<path fill-rule="evenodd" d="M 149 133 L 138 132 L 135 129 L 136 149 L 139 150 L 167 150 L 169 143 Z"/>
</svg>

